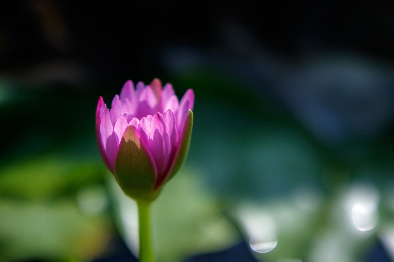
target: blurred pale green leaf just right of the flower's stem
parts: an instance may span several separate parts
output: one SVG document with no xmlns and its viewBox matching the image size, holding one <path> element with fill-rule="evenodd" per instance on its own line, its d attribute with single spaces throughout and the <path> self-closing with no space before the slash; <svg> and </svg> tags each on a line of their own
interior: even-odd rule
<svg viewBox="0 0 394 262">
<path fill-rule="evenodd" d="M 218 207 L 201 174 L 184 167 L 154 203 L 160 261 L 182 261 L 234 245 L 238 232 Z"/>
</svg>

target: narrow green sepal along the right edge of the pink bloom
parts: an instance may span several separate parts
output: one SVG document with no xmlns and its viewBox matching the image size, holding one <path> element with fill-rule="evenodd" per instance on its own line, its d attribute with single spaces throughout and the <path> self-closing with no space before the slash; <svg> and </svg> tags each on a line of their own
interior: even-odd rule
<svg viewBox="0 0 394 262">
<path fill-rule="evenodd" d="M 193 129 L 193 112 L 189 109 L 188 116 L 186 116 L 185 124 L 183 127 L 182 135 L 179 141 L 178 151 L 175 153 L 174 161 L 169 169 L 168 181 L 178 172 L 186 160 L 189 153 L 190 139 L 191 139 L 191 129 Z M 161 185 L 159 185 L 161 186 Z"/>
</svg>

